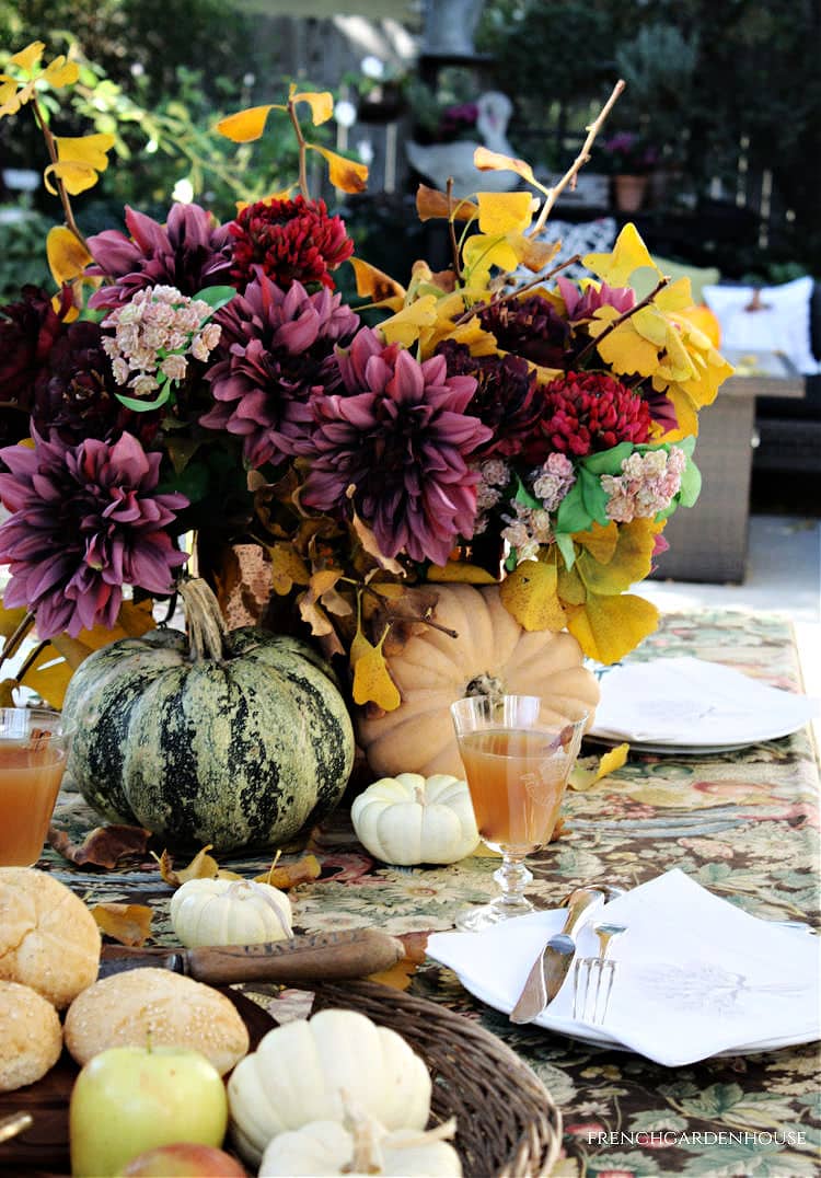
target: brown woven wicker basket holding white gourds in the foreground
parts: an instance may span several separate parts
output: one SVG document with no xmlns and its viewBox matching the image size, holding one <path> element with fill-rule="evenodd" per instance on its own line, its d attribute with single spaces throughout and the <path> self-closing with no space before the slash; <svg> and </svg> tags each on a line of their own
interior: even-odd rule
<svg viewBox="0 0 821 1178">
<path fill-rule="evenodd" d="M 562 1144 L 562 1116 L 542 1081 L 499 1039 L 423 998 L 375 982 L 324 985 L 313 1010 L 343 1007 L 390 1027 L 428 1064 L 436 1123 L 456 1117 L 465 1178 L 541 1178 Z"/>
</svg>

